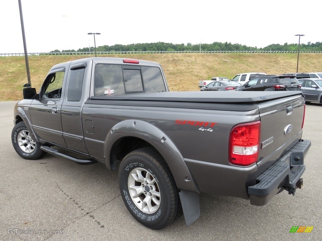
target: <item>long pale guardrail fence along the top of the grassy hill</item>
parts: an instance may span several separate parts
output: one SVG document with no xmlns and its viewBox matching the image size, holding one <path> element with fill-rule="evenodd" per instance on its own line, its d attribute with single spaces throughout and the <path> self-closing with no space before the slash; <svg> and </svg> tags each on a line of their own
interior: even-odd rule
<svg viewBox="0 0 322 241">
<path fill-rule="evenodd" d="M 190 53 L 204 53 L 204 54 L 219 54 L 219 53 L 260 53 L 260 54 L 297 54 L 298 51 L 112 51 L 112 52 L 97 52 L 99 55 L 104 54 L 190 54 Z M 300 51 L 300 53 L 322 53 L 322 51 Z M 52 53 L 27 53 L 27 55 L 85 55 L 85 54 L 95 54 L 95 52 L 52 52 Z M 0 56 L 24 56 L 24 53 L 0 53 Z"/>
</svg>

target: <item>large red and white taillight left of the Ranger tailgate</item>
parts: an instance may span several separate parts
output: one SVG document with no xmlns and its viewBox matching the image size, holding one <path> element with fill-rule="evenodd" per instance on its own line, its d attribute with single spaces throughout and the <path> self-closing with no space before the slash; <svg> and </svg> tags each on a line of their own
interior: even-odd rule
<svg viewBox="0 0 322 241">
<path fill-rule="evenodd" d="M 230 134 L 229 162 L 243 166 L 257 162 L 259 142 L 260 121 L 235 126 Z"/>
</svg>

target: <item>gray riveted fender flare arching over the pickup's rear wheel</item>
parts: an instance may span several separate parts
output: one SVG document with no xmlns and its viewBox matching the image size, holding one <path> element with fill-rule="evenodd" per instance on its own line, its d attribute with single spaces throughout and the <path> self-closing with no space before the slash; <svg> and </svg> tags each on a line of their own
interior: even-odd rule
<svg viewBox="0 0 322 241">
<path fill-rule="evenodd" d="M 109 161 L 111 157 L 111 148 L 119 139 L 125 137 L 140 138 L 156 148 L 169 166 L 177 188 L 199 193 L 178 148 L 165 133 L 146 121 L 125 120 L 119 122 L 110 129 L 104 144 L 105 165 L 109 169 L 111 169 Z"/>
</svg>

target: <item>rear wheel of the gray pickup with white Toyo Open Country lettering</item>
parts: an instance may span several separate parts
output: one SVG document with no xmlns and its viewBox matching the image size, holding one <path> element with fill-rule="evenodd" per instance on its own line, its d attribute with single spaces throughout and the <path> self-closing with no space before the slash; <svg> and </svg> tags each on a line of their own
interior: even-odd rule
<svg viewBox="0 0 322 241">
<path fill-rule="evenodd" d="M 141 148 L 125 156 L 118 180 L 125 206 L 147 228 L 166 228 L 181 215 L 173 176 L 154 148 Z"/>
</svg>

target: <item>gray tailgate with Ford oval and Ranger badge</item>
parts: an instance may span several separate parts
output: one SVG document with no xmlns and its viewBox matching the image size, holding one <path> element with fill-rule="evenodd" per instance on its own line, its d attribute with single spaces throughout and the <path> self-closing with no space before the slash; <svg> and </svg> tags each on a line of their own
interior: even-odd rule
<svg viewBox="0 0 322 241">
<path fill-rule="evenodd" d="M 303 98 L 300 95 L 259 104 L 261 122 L 257 162 L 259 172 L 281 157 L 292 142 L 301 139 L 304 108 Z"/>
</svg>

